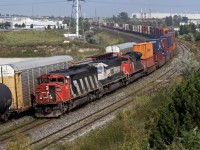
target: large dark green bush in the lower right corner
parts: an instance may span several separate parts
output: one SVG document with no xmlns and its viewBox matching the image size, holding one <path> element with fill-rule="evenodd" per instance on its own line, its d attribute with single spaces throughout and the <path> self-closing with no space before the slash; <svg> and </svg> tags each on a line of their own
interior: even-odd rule
<svg viewBox="0 0 200 150">
<path fill-rule="evenodd" d="M 151 124 L 150 148 L 167 149 L 177 137 L 200 127 L 200 69 L 179 85 Z"/>
</svg>

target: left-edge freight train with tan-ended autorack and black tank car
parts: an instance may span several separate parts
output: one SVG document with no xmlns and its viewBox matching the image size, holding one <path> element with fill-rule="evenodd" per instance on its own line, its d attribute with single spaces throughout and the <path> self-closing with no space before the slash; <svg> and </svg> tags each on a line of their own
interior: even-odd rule
<svg viewBox="0 0 200 150">
<path fill-rule="evenodd" d="M 71 56 L 54 56 L 0 65 L 0 120 L 32 108 L 37 77 L 67 69 L 72 61 Z"/>
</svg>

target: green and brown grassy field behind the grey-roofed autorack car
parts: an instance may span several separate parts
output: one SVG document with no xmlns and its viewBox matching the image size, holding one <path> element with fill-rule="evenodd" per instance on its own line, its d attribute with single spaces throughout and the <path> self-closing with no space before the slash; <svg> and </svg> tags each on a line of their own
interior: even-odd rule
<svg viewBox="0 0 200 150">
<path fill-rule="evenodd" d="M 97 38 L 101 39 L 100 44 L 70 40 L 64 37 L 64 33 L 66 30 L 3 32 L 0 35 L 0 57 L 71 55 L 74 59 L 80 59 L 102 53 L 105 46 L 122 41 L 116 35 L 108 36 L 106 31 L 99 31 L 97 34 Z M 64 41 L 69 43 L 63 43 Z"/>
</svg>

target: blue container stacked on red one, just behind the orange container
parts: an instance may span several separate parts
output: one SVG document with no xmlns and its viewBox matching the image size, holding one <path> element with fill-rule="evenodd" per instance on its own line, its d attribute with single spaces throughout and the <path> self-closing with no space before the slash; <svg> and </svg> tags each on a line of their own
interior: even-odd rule
<svg viewBox="0 0 200 150">
<path fill-rule="evenodd" d="M 165 57 L 163 57 L 163 42 L 162 39 L 150 39 L 147 42 L 153 44 L 153 57 L 157 67 L 165 64 Z"/>
</svg>

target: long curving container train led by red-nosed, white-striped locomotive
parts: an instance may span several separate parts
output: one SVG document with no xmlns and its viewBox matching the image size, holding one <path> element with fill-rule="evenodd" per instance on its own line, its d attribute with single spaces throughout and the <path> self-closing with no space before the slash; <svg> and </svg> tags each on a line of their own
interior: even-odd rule
<svg viewBox="0 0 200 150">
<path fill-rule="evenodd" d="M 131 27 L 126 24 L 106 25 L 126 31 Z M 35 89 L 35 115 L 58 117 L 148 75 L 175 55 L 174 32 L 166 28 L 140 28 L 143 35 L 153 38 L 143 43 L 132 43 L 131 51 L 130 43 L 115 46 L 114 50 L 108 48 L 105 54 L 91 56 L 93 61 L 88 64 L 39 76 Z M 155 34 L 152 30 L 156 31 Z"/>
</svg>

